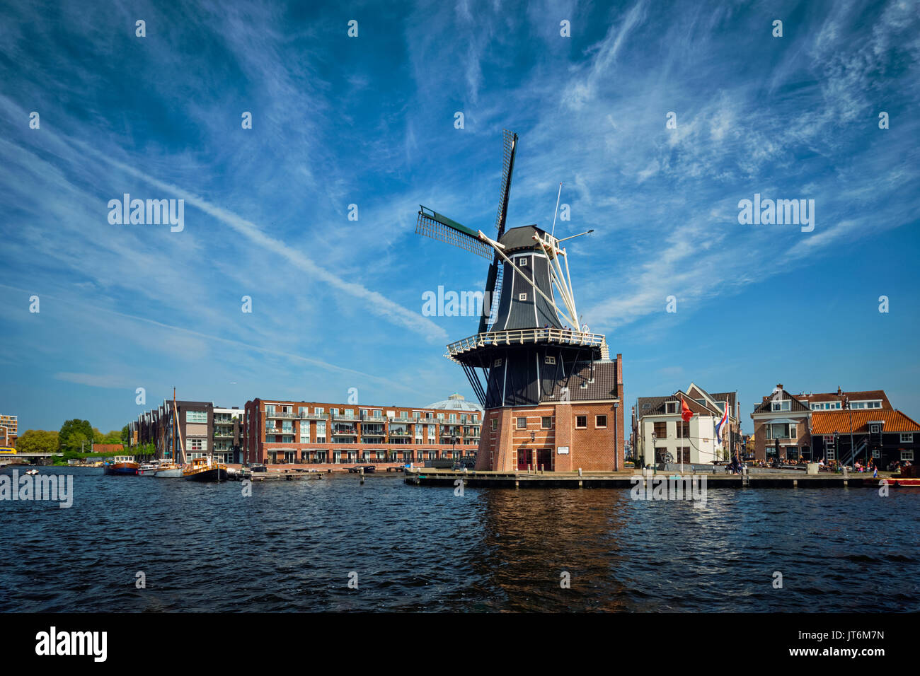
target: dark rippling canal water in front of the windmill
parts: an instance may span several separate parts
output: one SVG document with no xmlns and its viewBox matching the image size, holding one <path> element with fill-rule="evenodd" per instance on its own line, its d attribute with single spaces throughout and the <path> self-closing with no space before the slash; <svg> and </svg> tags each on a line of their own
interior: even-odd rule
<svg viewBox="0 0 920 676">
<path fill-rule="evenodd" d="M 696 506 L 627 489 L 456 496 L 383 474 L 244 497 L 41 472 L 73 475 L 74 503 L 0 501 L 3 612 L 920 610 L 917 490 L 722 488 Z"/>
</svg>

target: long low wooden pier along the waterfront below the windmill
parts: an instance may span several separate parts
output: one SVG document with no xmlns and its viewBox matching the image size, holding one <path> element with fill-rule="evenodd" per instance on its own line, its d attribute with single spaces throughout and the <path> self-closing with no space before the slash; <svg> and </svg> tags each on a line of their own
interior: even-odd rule
<svg viewBox="0 0 920 676">
<path fill-rule="evenodd" d="M 656 472 L 642 474 L 636 472 L 475 472 L 455 471 L 415 467 L 406 470 L 406 483 L 411 486 L 458 486 L 457 479 L 465 487 L 482 488 L 631 488 L 641 481 L 668 480 L 681 478 L 690 480 L 694 477 L 706 477 L 708 488 L 832 488 L 832 487 L 868 487 L 878 488 L 881 481 L 888 481 L 889 486 L 896 485 L 897 477 L 879 475 L 872 478 L 869 474 L 848 475 L 832 472 L 808 475 L 804 472 L 751 473 L 748 475 L 730 475 L 721 473 L 694 474 L 679 472 Z"/>
</svg>

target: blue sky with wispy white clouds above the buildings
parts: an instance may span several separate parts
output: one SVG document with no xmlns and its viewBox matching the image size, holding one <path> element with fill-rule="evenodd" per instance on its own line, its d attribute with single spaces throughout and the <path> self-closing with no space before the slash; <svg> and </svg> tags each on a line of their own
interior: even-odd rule
<svg viewBox="0 0 920 676">
<path fill-rule="evenodd" d="M 781 382 L 885 389 L 920 418 L 916 3 L 168 5 L 0 8 L 0 412 L 20 430 L 121 428 L 137 387 L 147 407 L 174 386 L 472 398 L 443 351 L 477 319 L 423 316 L 422 293 L 481 289 L 488 263 L 415 214 L 494 233 L 503 128 L 509 226 L 548 227 L 561 181 L 557 234 L 595 230 L 572 285 L 623 353 L 627 411 L 695 381 L 737 389 L 750 431 Z M 125 192 L 184 199 L 184 230 L 110 224 Z M 813 199 L 813 232 L 740 224 L 755 193 Z"/>
</svg>

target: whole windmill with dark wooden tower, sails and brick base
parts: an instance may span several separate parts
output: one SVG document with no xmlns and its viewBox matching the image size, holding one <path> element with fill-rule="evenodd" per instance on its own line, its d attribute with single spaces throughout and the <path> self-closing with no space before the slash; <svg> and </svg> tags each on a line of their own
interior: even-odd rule
<svg viewBox="0 0 920 676">
<path fill-rule="evenodd" d="M 622 356 L 612 361 L 604 336 L 579 327 L 569 257 L 559 246 L 579 235 L 559 239 L 536 225 L 505 230 L 517 143 L 504 132 L 495 239 L 424 206 L 416 226 L 491 260 L 478 331 L 445 354 L 486 409 L 476 468 L 621 469 Z"/>
</svg>

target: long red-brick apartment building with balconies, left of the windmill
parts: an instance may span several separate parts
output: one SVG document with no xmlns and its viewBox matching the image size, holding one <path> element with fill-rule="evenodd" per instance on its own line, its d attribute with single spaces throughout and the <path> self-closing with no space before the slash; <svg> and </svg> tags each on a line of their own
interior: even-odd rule
<svg viewBox="0 0 920 676">
<path fill-rule="evenodd" d="M 460 395 L 430 407 L 256 398 L 243 419 L 242 462 L 374 464 L 459 460 L 475 453 L 482 414 Z"/>
</svg>

